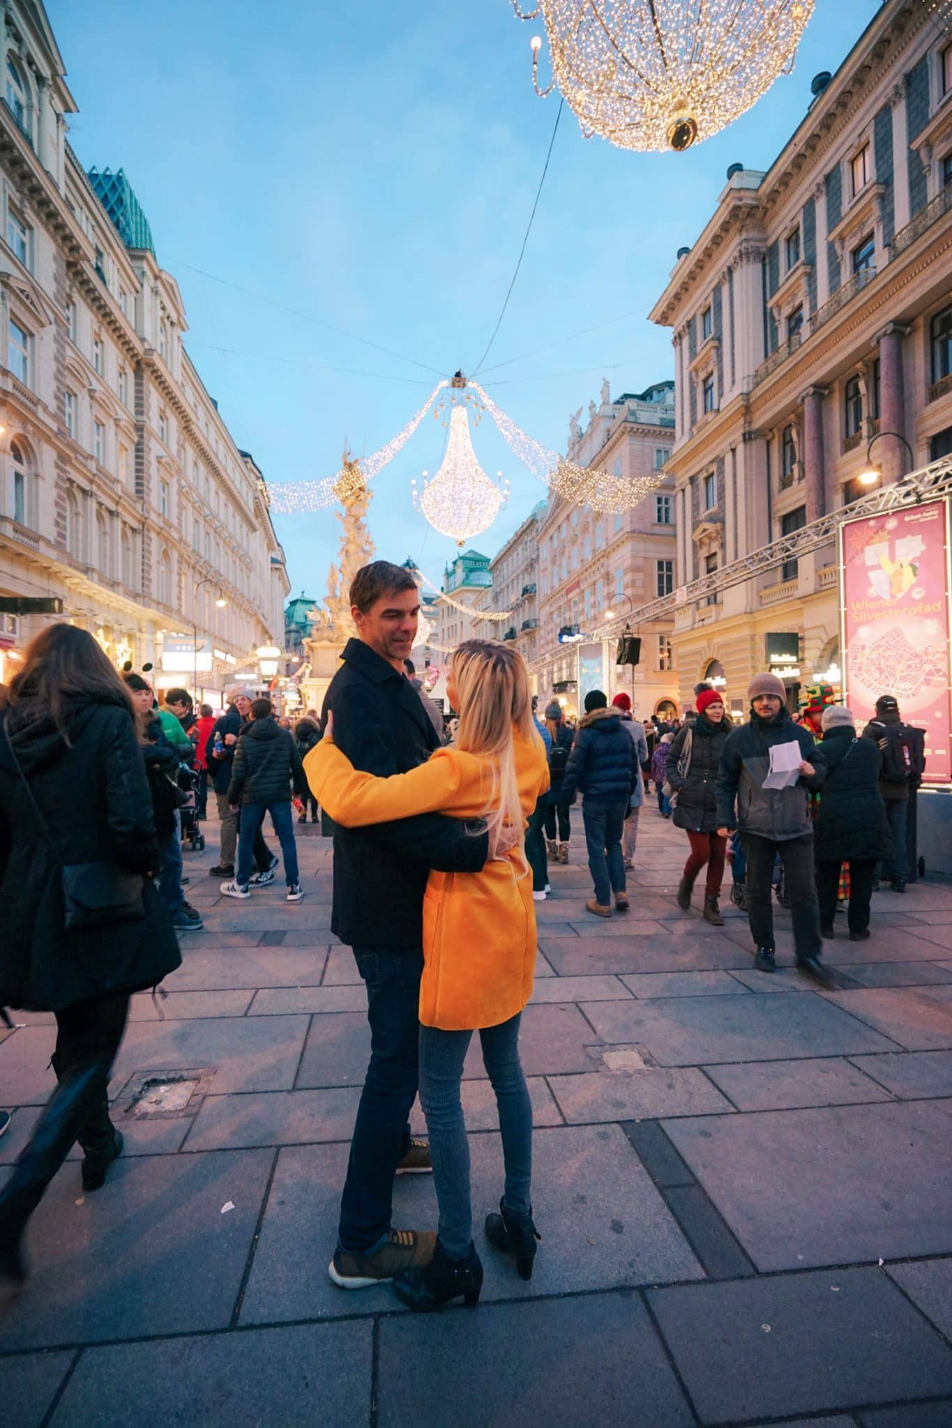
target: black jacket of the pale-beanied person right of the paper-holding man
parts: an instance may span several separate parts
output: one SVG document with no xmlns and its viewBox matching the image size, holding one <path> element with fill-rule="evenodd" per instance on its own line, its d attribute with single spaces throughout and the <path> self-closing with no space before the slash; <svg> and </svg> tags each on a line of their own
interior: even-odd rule
<svg viewBox="0 0 952 1428">
<path fill-rule="evenodd" d="M 856 738 L 849 724 L 824 734 L 826 777 L 814 824 L 819 861 L 844 863 L 889 855 L 886 805 L 879 791 L 879 748 Z"/>
</svg>

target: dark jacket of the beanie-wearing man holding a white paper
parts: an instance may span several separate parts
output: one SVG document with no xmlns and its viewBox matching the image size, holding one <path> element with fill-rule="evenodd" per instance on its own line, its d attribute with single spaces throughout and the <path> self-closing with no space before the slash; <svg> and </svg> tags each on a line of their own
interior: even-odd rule
<svg viewBox="0 0 952 1428">
<path fill-rule="evenodd" d="M 812 764 L 814 775 L 801 777 L 792 788 L 765 788 L 771 747 L 794 741 L 799 744 L 804 760 Z M 819 788 L 825 770 L 822 747 L 814 743 L 808 728 L 794 723 L 788 708 L 781 707 L 769 720 L 751 710 L 749 723 L 731 730 L 721 755 L 718 827 L 739 828 L 776 843 L 808 837 L 814 823 L 806 794 Z"/>
</svg>

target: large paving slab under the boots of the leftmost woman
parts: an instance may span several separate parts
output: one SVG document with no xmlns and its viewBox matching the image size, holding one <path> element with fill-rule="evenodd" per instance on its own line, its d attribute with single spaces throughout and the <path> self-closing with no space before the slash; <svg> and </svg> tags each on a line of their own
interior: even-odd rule
<svg viewBox="0 0 952 1428">
<path fill-rule="evenodd" d="M 77 1198 L 76 1165 L 27 1231 L 30 1279 L 3 1347 L 46 1348 L 227 1328 L 274 1151 L 121 1158 Z M 221 1214 L 227 1201 L 234 1210 Z"/>
</svg>

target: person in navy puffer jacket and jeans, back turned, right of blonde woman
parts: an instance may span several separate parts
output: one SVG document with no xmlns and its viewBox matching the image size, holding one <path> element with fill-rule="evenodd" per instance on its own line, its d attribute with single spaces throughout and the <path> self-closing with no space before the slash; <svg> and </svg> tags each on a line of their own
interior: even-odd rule
<svg viewBox="0 0 952 1428">
<path fill-rule="evenodd" d="M 619 912 L 629 908 L 625 860 L 621 840 L 631 795 L 641 783 L 638 745 L 625 733 L 621 710 L 608 708 L 602 690 L 585 695 L 585 717 L 579 721 L 572 751 L 565 764 L 562 798 L 572 803 L 584 795 L 582 824 L 588 845 L 588 868 L 595 897 L 585 908 L 595 917 L 611 917 L 611 895 Z"/>
</svg>

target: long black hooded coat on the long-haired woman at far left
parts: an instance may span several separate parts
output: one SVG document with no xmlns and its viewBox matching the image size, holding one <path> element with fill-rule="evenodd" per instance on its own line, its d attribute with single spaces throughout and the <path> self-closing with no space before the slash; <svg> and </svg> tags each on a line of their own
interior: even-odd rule
<svg viewBox="0 0 952 1428">
<path fill-rule="evenodd" d="M 64 865 L 116 861 L 147 874 L 160 861 L 128 705 L 120 697 L 71 701 L 64 723 L 71 747 L 46 708 L 20 700 L 0 730 L 0 1005 L 27 1011 L 141 991 L 181 961 L 151 878 L 143 888 L 141 921 L 70 932 L 63 925 Z"/>
</svg>

